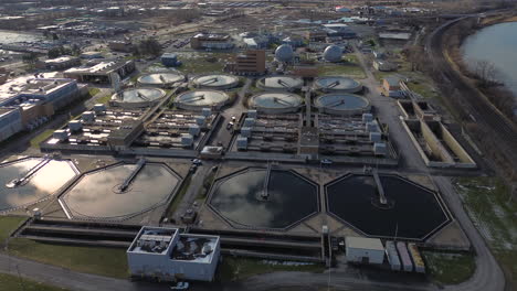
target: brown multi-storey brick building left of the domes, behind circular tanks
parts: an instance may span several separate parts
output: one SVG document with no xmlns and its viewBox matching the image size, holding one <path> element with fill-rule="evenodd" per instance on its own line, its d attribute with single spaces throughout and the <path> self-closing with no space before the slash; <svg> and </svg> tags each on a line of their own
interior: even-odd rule
<svg viewBox="0 0 517 291">
<path fill-rule="evenodd" d="M 265 51 L 247 50 L 235 56 L 234 63 L 226 64 L 226 71 L 238 75 L 262 75 L 265 73 Z"/>
</svg>

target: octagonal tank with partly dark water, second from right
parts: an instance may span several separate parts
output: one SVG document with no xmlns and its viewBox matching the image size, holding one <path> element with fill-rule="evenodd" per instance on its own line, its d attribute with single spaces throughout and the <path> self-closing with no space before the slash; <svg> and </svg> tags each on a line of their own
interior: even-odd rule
<svg viewBox="0 0 517 291">
<path fill-rule="evenodd" d="M 215 181 L 209 203 L 234 227 L 285 229 L 317 213 L 318 201 L 317 184 L 294 171 L 251 168 Z"/>
</svg>

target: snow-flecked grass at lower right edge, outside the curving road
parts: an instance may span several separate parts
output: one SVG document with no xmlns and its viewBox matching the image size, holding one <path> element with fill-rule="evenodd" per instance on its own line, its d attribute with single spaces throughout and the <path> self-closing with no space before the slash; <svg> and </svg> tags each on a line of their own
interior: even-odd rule
<svg viewBox="0 0 517 291">
<path fill-rule="evenodd" d="M 516 290 L 517 195 L 510 201 L 509 187 L 497 177 L 461 177 L 454 181 L 454 185 L 468 215 Z"/>
</svg>

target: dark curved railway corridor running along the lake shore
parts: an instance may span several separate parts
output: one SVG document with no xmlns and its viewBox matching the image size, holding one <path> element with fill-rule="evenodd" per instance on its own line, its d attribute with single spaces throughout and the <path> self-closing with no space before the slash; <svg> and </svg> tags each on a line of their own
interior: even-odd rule
<svg viewBox="0 0 517 291">
<path fill-rule="evenodd" d="M 504 155 L 511 160 L 514 166 L 517 166 L 517 128 L 508 120 L 497 108 L 494 107 L 476 88 L 466 83 L 444 56 L 442 39 L 444 33 L 457 22 L 473 15 L 458 18 L 449 21 L 437 28 L 428 39 L 425 51 L 431 61 L 442 72 L 442 76 L 452 83 L 461 93 L 460 97 L 465 106 L 464 110 L 472 116 L 482 127 L 492 130 L 496 134 L 498 148 Z"/>
</svg>

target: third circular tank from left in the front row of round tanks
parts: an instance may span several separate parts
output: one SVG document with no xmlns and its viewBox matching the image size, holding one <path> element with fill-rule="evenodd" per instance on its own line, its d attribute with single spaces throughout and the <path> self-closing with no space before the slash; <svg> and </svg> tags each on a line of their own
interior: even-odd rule
<svg viewBox="0 0 517 291">
<path fill-rule="evenodd" d="M 250 98 L 250 107 L 264 114 L 295 112 L 302 106 L 302 97 L 292 93 L 261 93 Z"/>
</svg>

